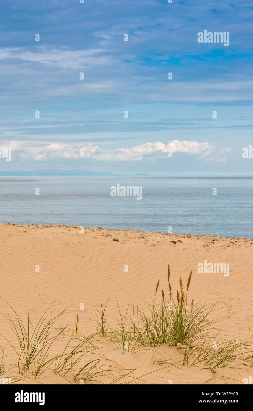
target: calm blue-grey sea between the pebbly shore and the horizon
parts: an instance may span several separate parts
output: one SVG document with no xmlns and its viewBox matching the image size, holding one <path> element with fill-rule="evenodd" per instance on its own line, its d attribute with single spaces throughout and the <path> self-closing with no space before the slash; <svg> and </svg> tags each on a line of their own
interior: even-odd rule
<svg viewBox="0 0 253 411">
<path fill-rule="evenodd" d="M 112 197 L 118 183 L 143 198 Z M 0 177 L 1 223 L 253 238 L 252 210 L 252 178 Z"/>
</svg>

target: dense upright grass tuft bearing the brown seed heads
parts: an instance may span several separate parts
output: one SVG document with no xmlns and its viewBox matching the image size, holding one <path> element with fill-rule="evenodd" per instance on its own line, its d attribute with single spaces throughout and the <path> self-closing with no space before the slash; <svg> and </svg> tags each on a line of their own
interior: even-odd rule
<svg viewBox="0 0 253 411">
<path fill-rule="evenodd" d="M 170 268 L 168 266 L 168 297 L 162 290 L 162 300 L 158 297 L 159 280 L 155 288 L 152 303 L 144 301 L 144 308 L 136 305 L 132 316 L 123 315 L 119 310 L 119 327 L 111 329 L 112 336 L 121 336 L 121 343 L 128 341 L 131 351 L 140 346 L 156 347 L 160 345 L 192 345 L 218 321 L 208 319 L 216 304 L 205 305 L 191 301 L 188 307 L 188 290 L 191 282 L 189 274 L 186 291 L 183 290 L 182 278 L 179 278 L 180 292 L 177 290 L 176 301 L 172 296 Z M 118 305 L 119 308 L 119 305 Z M 102 315 L 102 313 L 101 313 Z M 108 324 L 107 324 L 108 326 Z"/>
</svg>

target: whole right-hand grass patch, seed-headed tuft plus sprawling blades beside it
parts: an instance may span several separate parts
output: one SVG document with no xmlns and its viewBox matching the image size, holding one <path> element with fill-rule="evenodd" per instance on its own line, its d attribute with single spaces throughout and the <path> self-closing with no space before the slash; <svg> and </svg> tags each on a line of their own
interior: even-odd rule
<svg viewBox="0 0 253 411">
<path fill-rule="evenodd" d="M 144 308 L 134 306 L 131 315 L 128 314 L 129 306 L 125 314 L 122 314 L 117 302 L 118 326 L 112 327 L 107 323 L 109 339 L 122 349 L 123 353 L 127 350 L 136 351 L 141 347 L 177 346 L 178 349 L 184 349 L 183 365 L 204 363 L 210 369 L 228 366 L 235 361 L 251 365 L 251 339 L 229 340 L 220 335 L 222 320 L 231 315 L 231 308 L 219 302 L 209 305 L 201 303 L 200 300 L 194 302 L 194 298 L 189 300 L 191 277 L 192 270 L 184 290 L 180 275 L 180 291 L 177 290 L 174 299 L 168 264 L 168 292 L 164 293 L 162 289 L 162 298 L 159 297 L 158 280 L 154 300 L 151 303 L 144 301 Z M 224 309 L 227 310 L 226 314 L 222 314 Z M 216 313 L 220 311 L 221 314 Z M 103 313 L 101 304 L 100 316 L 103 316 Z M 213 341 L 218 341 L 217 349 L 213 348 Z"/>
</svg>

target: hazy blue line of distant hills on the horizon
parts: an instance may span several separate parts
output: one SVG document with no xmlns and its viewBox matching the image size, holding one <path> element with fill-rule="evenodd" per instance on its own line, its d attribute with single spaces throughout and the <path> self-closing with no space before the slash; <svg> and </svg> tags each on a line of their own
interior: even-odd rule
<svg viewBox="0 0 253 411">
<path fill-rule="evenodd" d="M 96 171 L 89 170 L 32 170 L 32 171 L 0 171 L 0 175 L 129 175 L 129 174 L 115 174 L 115 173 L 97 173 Z M 134 175 L 148 175 L 148 174 L 134 174 Z"/>
</svg>

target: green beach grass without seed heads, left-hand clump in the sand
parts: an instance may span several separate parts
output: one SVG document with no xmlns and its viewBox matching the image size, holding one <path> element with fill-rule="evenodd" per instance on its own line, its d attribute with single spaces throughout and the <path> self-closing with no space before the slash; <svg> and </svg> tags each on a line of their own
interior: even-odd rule
<svg viewBox="0 0 253 411">
<path fill-rule="evenodd" d="M 129 370 L 114 367 L 111 360 L 101 356 L 99 351 L 96 352 L 98 347 L 93 344 L 93 340 L 96 339 L 98 332 L 94 332 L 87 337 L 82 335 L 78 331 L 78 315 L 75 320 L 74 330 L 68 328 L 68 326 L 56 328 L 55 322 L 64 314 L 65 310 L 58 315 L 52 316 L 51 304 L 34 324 L 30 314 L 27 316 L 27 322 L 24 322 L 14 308 L 6 300 L 4 301 L 14 312 L 13 316 L 3 315 L 9 320 L 16 341 L 10 341 L 1 335 L 14 350 L 16 354 L 14 358 L 17 357 L 18 372 L 21 374 L 21 376 L 11 377 L 8 375 L 11 378 L 11 383 L 21 380 L 36 380 L 37 377 L 48 370 L 52 374 L 62 376 L 71 384 L 80 380 L 80 383 L 85 384 L 112 384 L 117 383 L 133 371 L 130 370 L 129 372 Z M 52 316 L 51 319 L 50 316 Z M 104 330 L 104 326 L 102 326 L 102 329 Z M 60 352 L 52 355 L 52 351 L 55 351 L 53 344 L 59 342 L 60 338 L 67 339 L 67 342 Z M 17 346 L 18 348 L 16 348 Z M 57 344 L 57 346 L 59 345 Z M 4 349 L 0 347 L 0 376 L 8 379 L 4 374 L 9 374 L 16 365 L 4 373 L 4 359 Z"/>
</svg>

